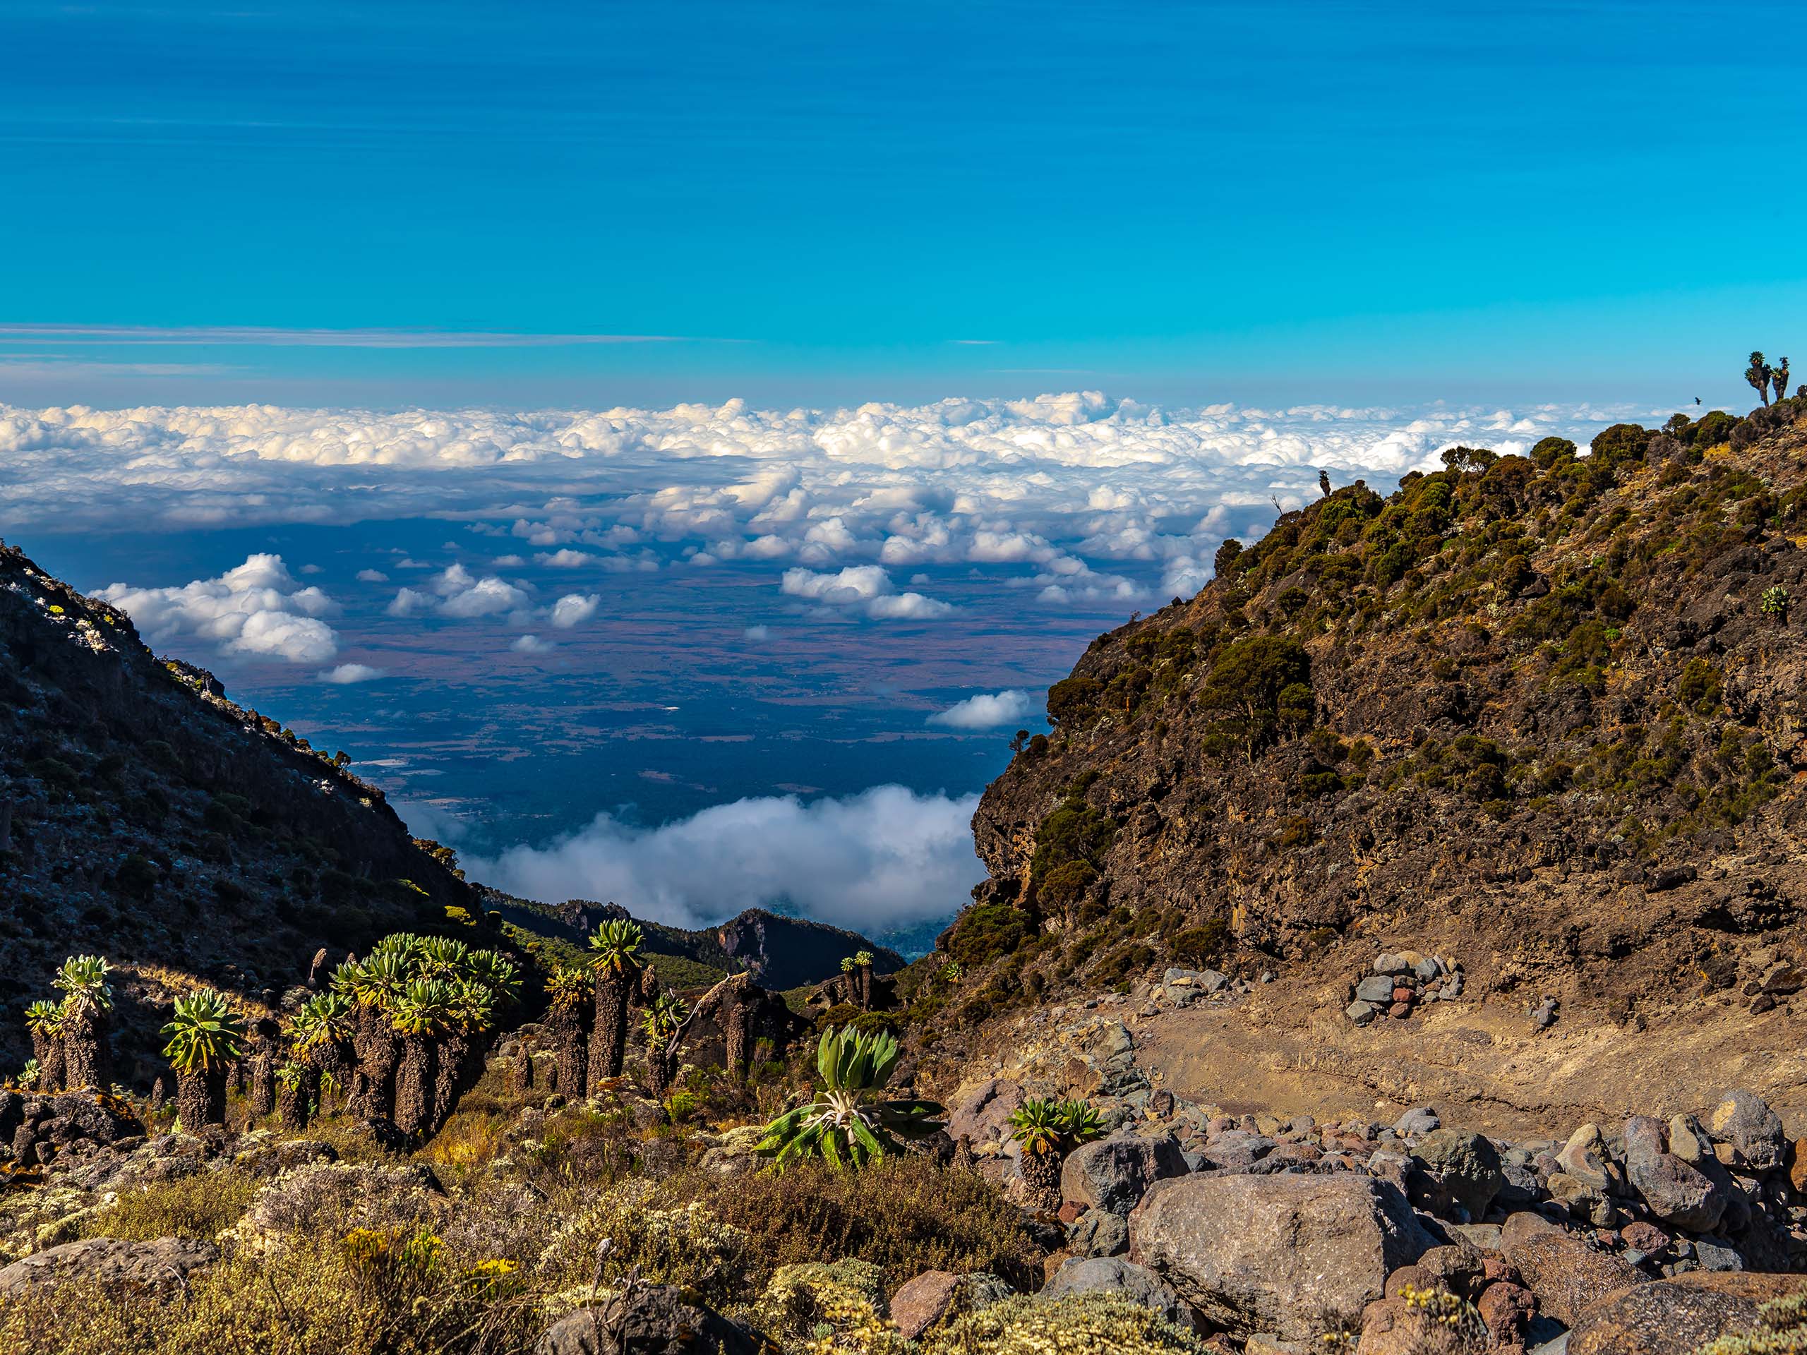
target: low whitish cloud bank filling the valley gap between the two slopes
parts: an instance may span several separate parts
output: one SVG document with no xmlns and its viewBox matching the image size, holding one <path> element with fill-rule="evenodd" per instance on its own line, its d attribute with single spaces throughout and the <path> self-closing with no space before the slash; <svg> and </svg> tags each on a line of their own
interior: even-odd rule
<svg viewBox="0 0 1807 1355">
<path fill-rule="evenodd" d="M 735 800 L 661 827 L 602 813 L 544 847 L 464 867 L 524 898 L 609 898 L 683 927 L 775 905 L 837 927 L 894 927 L 954 912 L 985 878 L 969 829 L 976 806 L 976 795 L 878 786 L 846 799 Z"/>
</svg>

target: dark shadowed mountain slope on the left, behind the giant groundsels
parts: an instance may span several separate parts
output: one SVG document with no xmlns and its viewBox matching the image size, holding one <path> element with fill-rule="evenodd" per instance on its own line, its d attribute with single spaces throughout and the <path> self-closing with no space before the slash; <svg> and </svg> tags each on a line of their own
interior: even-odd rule
<svg viewBox="0 0 1807 1355">
<path fill-rule="evenodd" d="M 126 967 L 116 1024 L 137 1041 L 121 1050 L 130 1075 L 155 1035 L 155 1014 L 134 1008 L 166 970 L 273 999 L 320 947 L 340 959 L 472 905 L 376 786 L 0 546 L 7 1066 L 25 1057 L 18 1010 L 49 995 L 67 954 Z"/>
</svg>

